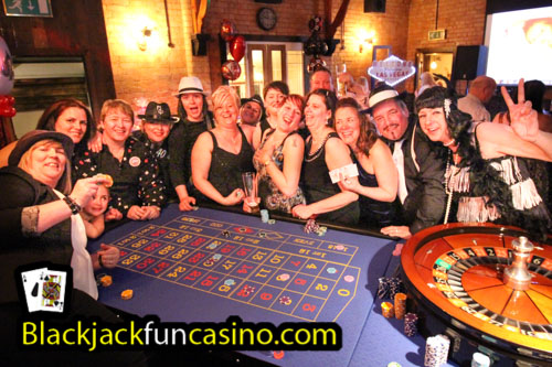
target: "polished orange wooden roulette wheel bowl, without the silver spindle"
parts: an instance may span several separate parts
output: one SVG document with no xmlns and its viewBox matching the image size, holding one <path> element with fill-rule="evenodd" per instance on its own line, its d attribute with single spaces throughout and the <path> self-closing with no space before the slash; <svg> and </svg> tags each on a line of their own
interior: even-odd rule
<svg viewBox="0 0 552 367">
<path fill-rule="evenodd" d="M 493 224 L 426 228 L 404 246 L 405 285 L 422 306 L 485 343 L 552 360 L 552 246 L 528 259 L 529 290 L 516 291 L 501 276 L 511 263 L 511 242 L 527 233 Z"/>
</svg>

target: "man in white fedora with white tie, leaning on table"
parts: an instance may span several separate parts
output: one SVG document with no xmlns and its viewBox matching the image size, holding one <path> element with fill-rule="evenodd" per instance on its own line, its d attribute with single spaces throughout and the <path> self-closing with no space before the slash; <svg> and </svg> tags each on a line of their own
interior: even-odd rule
<svg viewBox="0 0 552 367">
<path fill-rule="evenodd" d="M 445 211 L 445 168 L 422 137 L 399 93 L 386 84 L 375 87 L 369 98 L 378 130 L 393 152 L 399 171 L 399 199 L 403 223 L 381 229 L 403 239 L 439 224 Z"/>
</svg>

